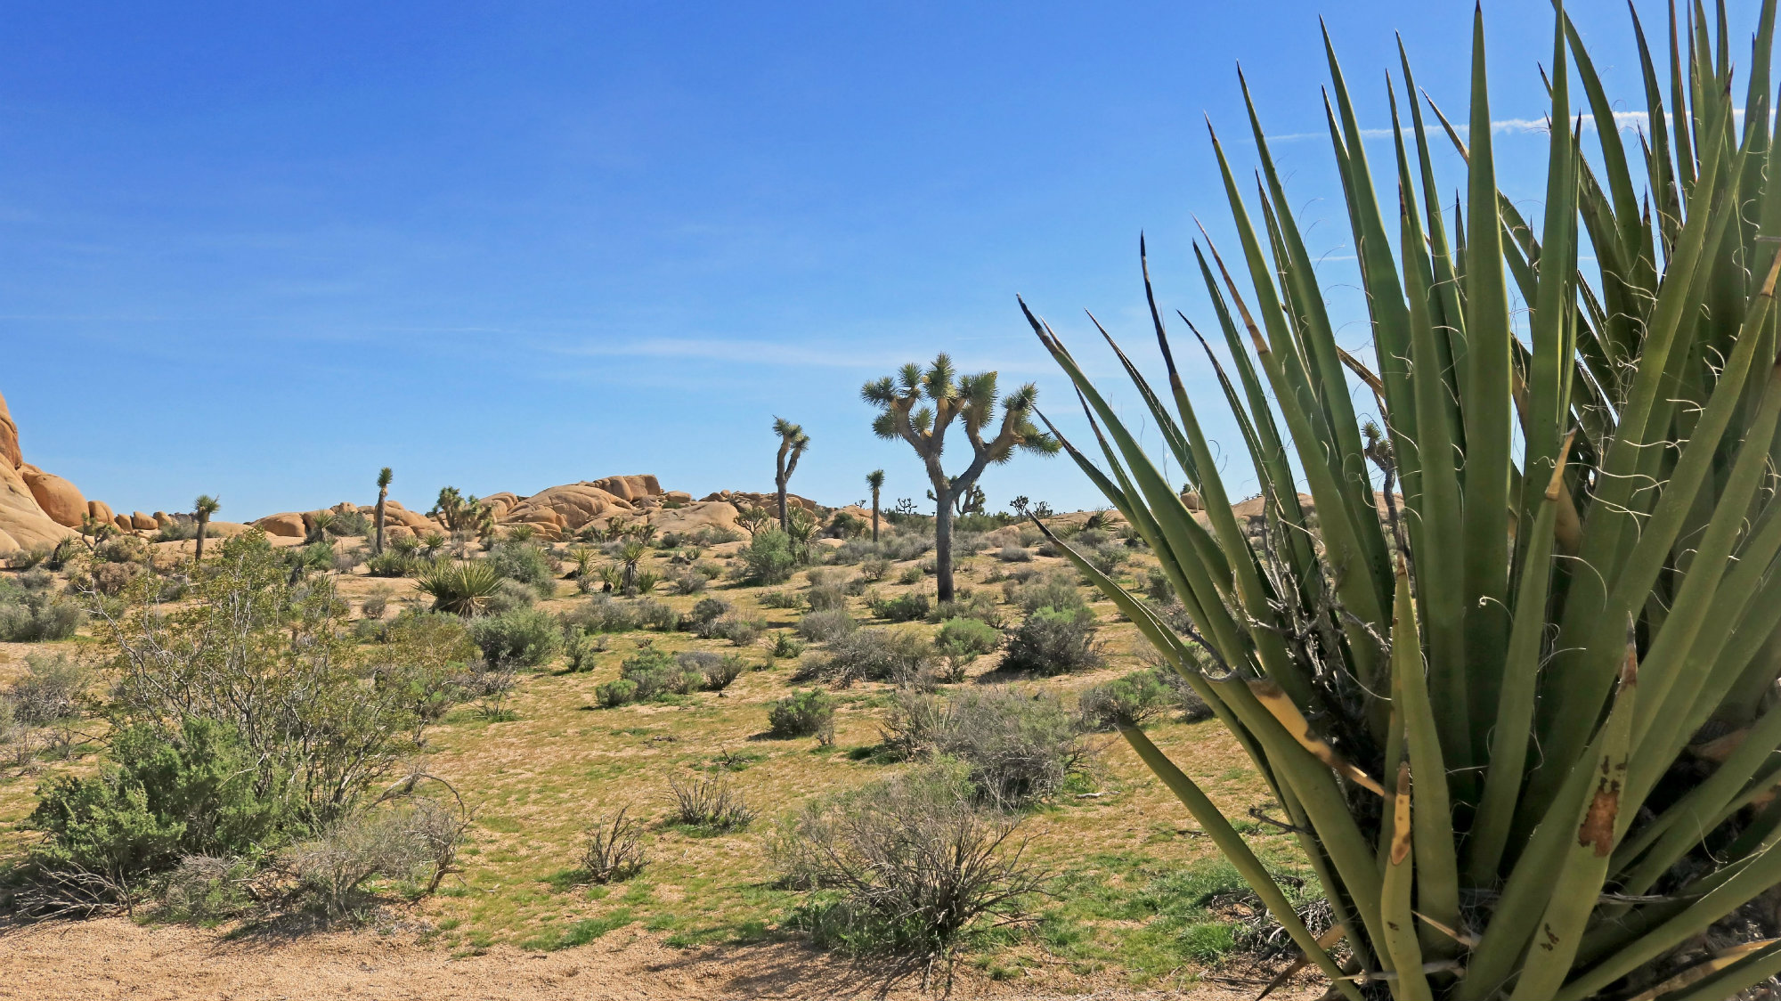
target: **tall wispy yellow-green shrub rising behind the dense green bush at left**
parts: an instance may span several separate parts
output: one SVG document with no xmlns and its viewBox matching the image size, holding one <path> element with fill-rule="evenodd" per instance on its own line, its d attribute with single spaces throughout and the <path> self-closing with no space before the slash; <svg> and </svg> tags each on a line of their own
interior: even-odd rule
<svg viewBox="0 0 1781 1001">
<path fill-rule="evenodd" d="M 397 616 L 386 641 L 360 645 L 347 602 L 328 581 L 292 584 L 264 533 L 217 549 L 194 582 L 198 600 L 167 609 L 132 593 L 103 623 L 98 639 L 119 673 L 109 711 L 119 727 L 167 739 L 189 718 L 235 728 L 255 787 L 281 787 L 321 830 L 411 757 L 427 721 L 415 689 L 461 670 L 467 639 Z"/>
</svg>

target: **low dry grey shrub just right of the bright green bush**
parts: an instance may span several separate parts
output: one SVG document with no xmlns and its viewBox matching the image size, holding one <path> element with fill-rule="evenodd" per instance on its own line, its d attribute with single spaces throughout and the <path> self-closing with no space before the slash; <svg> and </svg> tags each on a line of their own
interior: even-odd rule
<svg viewBox="0 0 1781 1001">
<path fill-rule="evenodd" d="M 287 848 L 280 862 L 329 917 L 358 908 L 365 883 L 383 878 L 431 889 L 449 869 L 463 823 L 447 807 L 410 798 L 347 814 L 321 837 Z"/>
</svg>

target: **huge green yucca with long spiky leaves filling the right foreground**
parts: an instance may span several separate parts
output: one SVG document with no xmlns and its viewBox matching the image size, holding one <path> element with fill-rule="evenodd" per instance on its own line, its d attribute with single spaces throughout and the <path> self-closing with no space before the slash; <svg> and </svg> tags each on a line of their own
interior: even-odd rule
<svg viewBox="0 0 1781 1001">
<path fill-rule="evenodd" d="M 1313 937 L 1211 800 L 1124 734 L 1346 997 L 1731 997 L 1781 971 L 1772 910 L 1747 907 L 1781 882 L 1781 800 L 1753 807 L 1781 780 L 1774 18 L 1769 0 L 1742 118 L 1724 5 L 1712 25 L 1699 5 L 1679 30 L 1671 16 L 1667 71 L 1639 30 L 1649 119 L 1630 155 L 1560 11 L 1537 226 L 1496 183 L 1482 16 L 1466 135 L 1434 105 L 1446 135 L 1430 134 L 1403 59 L 1384 199 L 1329 52 L 1371 367 L 1336 344 L 1254 105 L 1254 196 L 1215 135 L 1240 249 L 1195 255 L 1234 378 L 1200 346 L 1261 484 L 1254 538 L 1147 265 L 1168 385 L 1106 340 L 1204 520 L 1028 312 L 1099 454 L 1067 449 L 1191 627 L 1054 545 L 1254 759 L 1338 928 Z M 1599 123 L 1589 155 L 1576 89 Z M 1443 142 L 1466 164 L 1452 224 Z M 1357 419 L 1350 372 L 1382 429 Z"/>
</svg>

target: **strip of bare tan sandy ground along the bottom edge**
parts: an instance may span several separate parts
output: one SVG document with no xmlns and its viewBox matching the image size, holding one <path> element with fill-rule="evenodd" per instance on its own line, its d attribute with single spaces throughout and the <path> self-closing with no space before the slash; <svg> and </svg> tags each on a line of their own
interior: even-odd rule
<svg viewBox="0 0 1781 1001">
<path fill-rule="evenodd" d="M 1199 983 L 1142 992 L 1067 971 L 992 981 L 960 964 L 953 997 L 1248 999 L 1259 983 Z M 1309 983 L 1277 997 L 1314 997 Z M 791 942 L 670 949 L 645 933 L 611 933 L 559 953 L 497 946 L 452 958 L 410 935 L 328 932 L 224 939 L 121 917 L 0 924 L 0 997 L 30 999 L 842 999 L 919 997 L 921 971 L 850 964 Z"/>
</svg>

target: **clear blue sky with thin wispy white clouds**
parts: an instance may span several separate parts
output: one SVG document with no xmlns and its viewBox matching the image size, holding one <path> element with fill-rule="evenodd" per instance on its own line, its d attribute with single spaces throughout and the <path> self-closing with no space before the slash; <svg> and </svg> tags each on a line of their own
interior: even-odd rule
<svg viewBox="0 0 1781 1001">
<path fill-rule="evenodd" d="M 1624 5 L 1569 9 L 1642 109 Z M 1154 356 L 1140 230 L 1165 305 L 1211 319 L 1193 214 L 1232 237 L 1202 114 L 1247 171 L 1238 62 L 1368 342 L 1320 12 L 1362 125 L 1386 125 L 1393 30 L 1464 114 L 1469 4 L 14 5 L 0 392 L 27 461 L 125 509 L 363 502 L 381 465 L 415 508 L 614 472 L 768 490 L 773 415 L 814 438 L 796 492 L 855 500 L 883 467 L 887 502 L 921 499 L 867 378 L 951 351 L 1067 413 L 1015 294 L 1115 378 L 1081 310 Z M 1541 118 L 1549 5 L 1485 23 L 1494 118 Z M 1542 148 L 1498 139 L 1532 205 Z M 1368 153 L 1389 167 L 1389 141 Z M 1097 500 L 1061 458 L 985 486 Z"/>
</svg>

